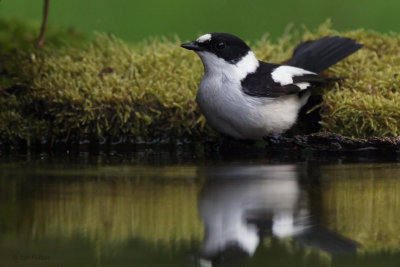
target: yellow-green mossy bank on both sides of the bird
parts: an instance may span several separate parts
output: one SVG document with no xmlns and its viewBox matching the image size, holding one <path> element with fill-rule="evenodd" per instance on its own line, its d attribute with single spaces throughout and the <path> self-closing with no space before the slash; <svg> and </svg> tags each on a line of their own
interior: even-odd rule
<svg viewBox="0 0 400 267">
<path fill-rule="evenodd" d="M 262 60 L 281 62 L 301 40 L 341 35 L 365 44 L 330 68 L 348 79 L 327 86 L 321 104 L 323 128 L 368 137 L 400 134 L 400 35 L 356 30 L 316 31 L 267 37 L 253 45 Z M 128 45 L 97 34 L 76 45 L 8 49 L 0 64 L 0 140 L 67 138 L 210 139 L 216 132 L 201 116 L 195 95 L 200 59 L 179 39 Z"/>
</svg>

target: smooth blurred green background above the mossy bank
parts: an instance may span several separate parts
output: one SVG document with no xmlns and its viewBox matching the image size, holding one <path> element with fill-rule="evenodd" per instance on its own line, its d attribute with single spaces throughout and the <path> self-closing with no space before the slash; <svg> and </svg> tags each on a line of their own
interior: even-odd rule
<svg viewBox="0 0 400 267">
<path fill-rule="evenodd" d="M 172 34 L 187 40 L 211 31 L 231 32 L 253 41 L 265 32 L 276 40 L 288 25 L 315 28 L 327 18 L 341 31 L 400 32 L 398 10 L 398 0 L 364 0 L 362 4 L 360 0 L 69 0 L 51 1 L 49 25 L 72 27 L 90 36 L 93 31 L 113 33 L 130 42 Z M 41 21 L 42 12 L 43 0 L 0 1 L 1 18 Z"/>
</svg>

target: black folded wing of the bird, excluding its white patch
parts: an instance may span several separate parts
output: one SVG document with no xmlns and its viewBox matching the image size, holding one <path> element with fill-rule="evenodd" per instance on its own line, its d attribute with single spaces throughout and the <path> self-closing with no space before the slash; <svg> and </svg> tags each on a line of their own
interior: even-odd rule
<svg viewBox="0 0 400 267">
<path fill-rule="evenodd" d="M 302 74 L 293 76 L 293 83 L 281 85 L 274 81 L 272 72 L 280 67 L 278 64 L 270 64 L 259 61 L 260 65 L 254 73 L 251 73 L 242 80 L 243 92 L 255 97 L 277 98 L 284 95 L 296 94 L 304 89 L 311 88 L 315 85 L 325 83 L 337 79 L 327 79 L 317 74 Z M 340 79 L 340 78 L 339 78 Z M 307 88 L 301 88 L 298 83 L 309 83 Z"/>
</svg>

